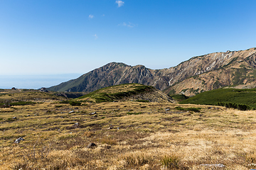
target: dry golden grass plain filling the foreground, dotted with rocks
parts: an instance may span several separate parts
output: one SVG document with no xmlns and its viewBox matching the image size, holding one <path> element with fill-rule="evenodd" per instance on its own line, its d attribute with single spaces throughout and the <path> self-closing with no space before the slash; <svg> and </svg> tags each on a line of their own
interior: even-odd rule
<svg viewBox="0 0 256 170">
<path fill-rule="evenodd" d="M 256 111 L 176 106 L 45 101 L 0 108 L 0 169 L 256 168 Z M 14 144 L 18 137 L 25 140 Z M 91 142 L 95 149 L 87 148 Z"/>
</svg>

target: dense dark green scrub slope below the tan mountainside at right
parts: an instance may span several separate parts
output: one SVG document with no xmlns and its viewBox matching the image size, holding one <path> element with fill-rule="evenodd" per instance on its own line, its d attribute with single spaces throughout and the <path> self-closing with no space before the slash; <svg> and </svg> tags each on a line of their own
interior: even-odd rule
<svg viewBox="0 0 256 170">
<path fill-rule="evenodd" d="M 225 106 L 241 111 L 255 110 L 256 89 L 216 89 L 197 94 L 180 103 Z"/>
</svg>

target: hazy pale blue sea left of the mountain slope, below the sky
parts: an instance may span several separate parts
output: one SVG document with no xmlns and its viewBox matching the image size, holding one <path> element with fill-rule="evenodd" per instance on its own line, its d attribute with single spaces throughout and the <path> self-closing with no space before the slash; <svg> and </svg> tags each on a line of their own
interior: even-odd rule
<svg viewBox="0 0 256 170">
<path fill-rule="evenodd" d="M 40 89 L 58 85 L 70 79 L 77 79 L 82 74 L 52 74 L 52 75 L 0 75 L 0 89 Z"/>
</svg>

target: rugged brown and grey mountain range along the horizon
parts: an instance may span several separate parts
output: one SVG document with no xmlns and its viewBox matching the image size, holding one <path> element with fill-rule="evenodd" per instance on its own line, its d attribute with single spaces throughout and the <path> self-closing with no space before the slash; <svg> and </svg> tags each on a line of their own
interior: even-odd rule
<svg viewBox="0 0 256 170">
<path fill-rule="evenodd" d="M 49 91 L 91 92 L 117 84 L 154 86 L 166 94 L 193 96 L 224 86 L 252 88 L 256 83 L 256 48 L 240 51 L 213 52 L 192 57 L 169 69 L 149 69 L 110 62 L 82 74 L 78 79 L 51 86 Z"/>
</svg>

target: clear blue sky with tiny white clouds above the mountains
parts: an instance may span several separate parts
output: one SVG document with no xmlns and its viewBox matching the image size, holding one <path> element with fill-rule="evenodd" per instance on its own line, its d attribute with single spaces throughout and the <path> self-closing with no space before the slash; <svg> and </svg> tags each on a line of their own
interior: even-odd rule
<svg viewBox="0 0 256 170">
<path fill-rule="evenodd" d="M 0 0 L 0 75 L 174 67 L 256 47 L 256 1 Z"/>
</svg>

